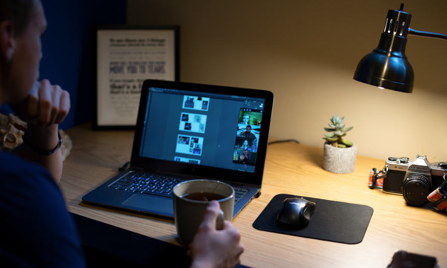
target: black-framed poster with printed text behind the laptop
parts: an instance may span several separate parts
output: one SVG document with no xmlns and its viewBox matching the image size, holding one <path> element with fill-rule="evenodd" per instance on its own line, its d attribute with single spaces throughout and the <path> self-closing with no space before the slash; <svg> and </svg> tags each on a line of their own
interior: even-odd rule
<svg viewBox="0 0 447 268">
<path fill-rule="evenodd" d="M 143 81 L 179 80 L 178 26 L 97 26 L 93 129 L 134 129 Z"/>
</svg>

